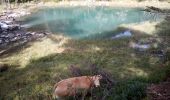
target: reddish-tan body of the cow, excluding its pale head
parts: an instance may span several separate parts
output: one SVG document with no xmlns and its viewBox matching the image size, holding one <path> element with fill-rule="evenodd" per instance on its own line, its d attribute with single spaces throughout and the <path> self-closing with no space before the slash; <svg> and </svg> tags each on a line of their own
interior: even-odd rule
<svg viewBox="0 0 170 100">
<path fill-rule="evenodd" d="M 79 90 L 89 89 L 91 85 L 92 80 L 88 76 L 65 79 L 56 84 L 55 95 L 57 96 L 75 95 Z"/>
</svg>

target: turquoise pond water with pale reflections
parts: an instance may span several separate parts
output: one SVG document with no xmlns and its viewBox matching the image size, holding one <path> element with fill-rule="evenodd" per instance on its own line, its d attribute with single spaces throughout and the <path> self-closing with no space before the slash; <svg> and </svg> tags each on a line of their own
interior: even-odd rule
<svg viewBox="0 0 170 100">
<path fill-rule="evenodd" d="M 46 30 L 72 38 L 99 36 L 121 24 L 155 21 L 140 8 L 58 7 L 38 10 L 24 18 L 23 26 L 30 30 Z"/>
</svg>

